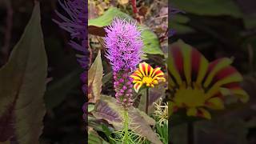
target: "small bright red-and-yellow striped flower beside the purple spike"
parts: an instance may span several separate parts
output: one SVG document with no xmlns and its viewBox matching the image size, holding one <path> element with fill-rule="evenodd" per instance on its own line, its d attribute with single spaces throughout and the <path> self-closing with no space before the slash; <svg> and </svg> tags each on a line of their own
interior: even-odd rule
<svg viewBox="0 0 256 144">
<path fill-rule="evenodd" d="M 133 78 L 134 90 L 138 93 L 138 90 L 145 84 L 148 87 L 154 87 L 158 82 L 165 82 L 164 73 L 160 67 L 153 69 L 146 62 L 142 62 L 138 66 L 138 70 L 135 70 L 134 74 L 130 75 Z"/>
</svg>

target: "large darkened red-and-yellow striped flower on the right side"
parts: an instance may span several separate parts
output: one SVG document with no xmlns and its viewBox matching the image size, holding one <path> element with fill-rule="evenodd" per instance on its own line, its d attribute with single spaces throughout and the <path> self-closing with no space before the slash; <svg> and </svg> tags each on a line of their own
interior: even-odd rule
<svg viewBox="0 0 256 144">
<path fill-rule="evenodd" d="M 182 41 L 171 45 L 167 60 L 170 110 L 185 108 L 189 116 L 210 119 L 208 110 L 224 109 L 227 94 L 247 102 L 249 96 L 239 86 L 242 75 L 231 63 L 230 58 L 208 62 L 198 50 Z"/>
</svg>

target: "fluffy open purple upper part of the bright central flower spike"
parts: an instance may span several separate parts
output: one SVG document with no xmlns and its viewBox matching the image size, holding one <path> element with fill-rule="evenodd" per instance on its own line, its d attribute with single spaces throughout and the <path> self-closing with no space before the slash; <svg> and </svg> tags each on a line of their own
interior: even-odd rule
<svg viewBox="0 0 256 144">
<path fill-rule="evenodd" d="M 135 70 L 141 62 L 142 46 L 141 32 L 136 22 L 127 22 L 114 18 L 112 24 L 105 28 L 106 58 L 114 71 Z"/>
</svg>

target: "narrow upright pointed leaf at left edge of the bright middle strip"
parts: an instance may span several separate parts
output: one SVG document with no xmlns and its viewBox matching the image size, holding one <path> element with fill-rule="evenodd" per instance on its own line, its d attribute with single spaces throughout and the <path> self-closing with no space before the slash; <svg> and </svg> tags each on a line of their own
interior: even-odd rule
<svg viewBox="0 0 256 144">
<path fill-rule="evenodd" d="M 102 91 L 103 66 L 101 58 L 101 50 L 98 50 L 98 55 L 94 63 L 88 71 L 88 98 L 89 102 L 97 102 L 101 97 Z"/>
</svg>

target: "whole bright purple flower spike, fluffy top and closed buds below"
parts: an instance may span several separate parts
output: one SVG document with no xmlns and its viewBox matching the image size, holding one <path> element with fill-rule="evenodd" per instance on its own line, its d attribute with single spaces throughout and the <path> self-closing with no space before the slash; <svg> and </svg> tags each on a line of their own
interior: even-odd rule
<svg viewBox="0 0 256 144">
<path fill-rule="evenodd" d="M 141 62 L 141 32 L 135 22 L 126 22 L 118 18 L 115 18 L 105 30 L 106 58 L 110 60 L 114 71 L 115 97 L 122 106 L 129 107 L 133 103 L 132 78 L 129 76 Z"/>
</svg>

